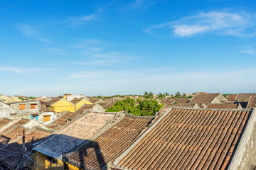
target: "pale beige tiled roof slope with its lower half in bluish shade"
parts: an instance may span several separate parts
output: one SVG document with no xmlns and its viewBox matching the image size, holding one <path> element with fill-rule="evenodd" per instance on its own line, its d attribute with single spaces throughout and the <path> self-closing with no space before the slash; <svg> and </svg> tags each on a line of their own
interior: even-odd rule
<svg viewBox="0 0 256 170">
<path fill-rule="evenodd" d="M 114 113 L 87 113 L 73 124 L 36 146 L 36 150 L 50 157 L 61 159 L 63 153 L 69 152 L 80 145 L 105 125 L 110 118 L 114 118 L 115 115 Z"/>
</svg>

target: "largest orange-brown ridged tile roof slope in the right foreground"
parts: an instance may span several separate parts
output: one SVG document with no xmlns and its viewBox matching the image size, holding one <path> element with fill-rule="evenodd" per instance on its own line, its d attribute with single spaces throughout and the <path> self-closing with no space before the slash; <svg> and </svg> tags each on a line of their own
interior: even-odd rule
<svg viewBox="0 0 256 170">
<path fill-rule="evenodd" d="M 117 165 L 129 169 L 226 169 L 250 114 L 248 110 L 174 108 Z"/>
</svg>

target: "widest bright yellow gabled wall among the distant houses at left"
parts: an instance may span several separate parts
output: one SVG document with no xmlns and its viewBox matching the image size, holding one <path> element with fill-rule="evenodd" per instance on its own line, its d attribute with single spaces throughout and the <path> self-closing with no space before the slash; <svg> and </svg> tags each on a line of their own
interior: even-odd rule
<svg viewBox="0 0 256 170">
<path fill-rule="evenodd" d="M 55 112 L 63 112 L 63 111 L 75 112 L 75 105 L 66 100 L 57 101 L 56 103 L 51 105 L 51 107 Z"/>
</svg>

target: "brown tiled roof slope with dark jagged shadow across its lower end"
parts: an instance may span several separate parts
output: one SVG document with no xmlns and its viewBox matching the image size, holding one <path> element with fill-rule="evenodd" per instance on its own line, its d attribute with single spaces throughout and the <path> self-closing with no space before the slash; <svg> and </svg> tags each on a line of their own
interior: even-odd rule
<svg viewBox="0 0 256 170">
<path fill-rule="evenodd" d="M 68 160 L 81 169 L 102 169 L 124 152 L 149 122 L 154 118 L 125 116 L 110 130 L 97 137 L 89 145 L 70 154 Z"/>
</svg>

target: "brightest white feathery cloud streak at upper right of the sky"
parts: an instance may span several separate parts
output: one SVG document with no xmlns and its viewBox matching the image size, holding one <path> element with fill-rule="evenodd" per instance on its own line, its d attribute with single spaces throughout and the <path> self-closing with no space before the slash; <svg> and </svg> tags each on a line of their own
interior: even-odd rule
<svg viewBox="0 0 256 170">
<path fill-rule="evenodd" d="M 245 11 L 209 11 L 187 16 L 177 21 L 169 21 L 151 26 L 144 30 L 150 35 L 161 35 L 167 30 L 171 35 L 188 37 L 199 33 L 219 33 L 223 35 L 247 36 L 256 35 L 256 17 Z"/>
</svg>

